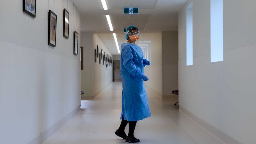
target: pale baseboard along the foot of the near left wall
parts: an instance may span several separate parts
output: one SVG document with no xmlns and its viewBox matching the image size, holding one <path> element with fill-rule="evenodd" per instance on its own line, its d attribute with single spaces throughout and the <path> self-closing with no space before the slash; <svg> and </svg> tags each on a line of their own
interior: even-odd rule
<svg viewBox="0 0 256 144">
<path fill-rule="evenodd" d="M 29 142 L 28 144 L 42 144 L 45 140 L 47 140 L 50 136 L 52 136 L 55 132 L 57 132 L 61 127 L 63 127 L 65 124 L 67 124 L 68 121 L 70 121 L 78 112 L 80 111 L 80 106 L 78 106 L 75 110 L 73 110 L 71 113 L 69 113 L 65 118 L 51 126 L 49 129 L 47 129 L 45 132 L 40 134 L 38 137 L 36 137 L 34 140 Z"/>
</svg>

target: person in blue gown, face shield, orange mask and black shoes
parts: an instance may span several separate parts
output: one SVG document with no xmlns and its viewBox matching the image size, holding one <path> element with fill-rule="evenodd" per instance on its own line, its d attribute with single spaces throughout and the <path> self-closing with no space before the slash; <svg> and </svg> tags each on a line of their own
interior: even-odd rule
<svg viewBox="0 0 256 144">
<path fill-rule="evenodd" d="M 138 45 L 140 31 L 138 27 L 130 25 L 126 28 L 126 43 L 121 45 L 120 72 L 122 77 L 123 94 L 122 94 L 122 113 L 121 125 L 115 134 L 125 139 L 127 143 L 140 142 L 135 138 L 133 133 L 137 121 L 151 116 L 148 96 L 146 93 L 144 81 L 148 77 L 144 75 L 144 67 L 150 65 L 150 61 L 143 59 L 143 52 Z M 129 123 L 128 136 L 124 129 Z"/>
</svg>

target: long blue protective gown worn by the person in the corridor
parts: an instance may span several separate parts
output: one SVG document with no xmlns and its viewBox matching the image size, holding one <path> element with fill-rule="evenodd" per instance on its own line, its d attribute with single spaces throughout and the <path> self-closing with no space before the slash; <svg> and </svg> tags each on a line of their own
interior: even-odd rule
<svg viewBox="0 0 256 144">
<path fill-rule="evenodd" d="M 140 73 L 144 75 L 143 52 L 138 45 L 129 42 L 122 44 L 121 47 L 120 72 L 123 84 L 121 118 L 124 116 L 127 121 L 139 121 L 151 116 L 143 80 L 137 77 Z"/>
</svg>

